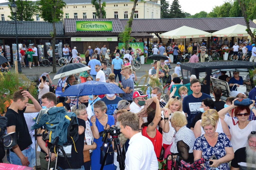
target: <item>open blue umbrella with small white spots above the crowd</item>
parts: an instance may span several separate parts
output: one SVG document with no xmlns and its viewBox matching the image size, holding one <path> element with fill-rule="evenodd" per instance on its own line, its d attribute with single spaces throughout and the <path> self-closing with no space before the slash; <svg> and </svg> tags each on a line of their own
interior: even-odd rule
<svg viewBox="0 0 256 170">
<path fill-rule="evenodd" d="M 118 86 L 112 83 L 100 81 L 87 81 L 67 88 L 60 96 L 81 96 L 124 93 Z"/>
</svg>

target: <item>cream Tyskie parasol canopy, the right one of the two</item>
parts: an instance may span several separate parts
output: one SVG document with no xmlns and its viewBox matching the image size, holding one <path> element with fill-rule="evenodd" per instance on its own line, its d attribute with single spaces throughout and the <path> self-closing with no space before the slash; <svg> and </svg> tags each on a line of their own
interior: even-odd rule
<svg viewBox="0 0 256 170">
<path fill-rule="evenodd" d="M 212 33 L 211 35 L 214 37 L 237 37 L 237 36 L 248 36 L 249 34 L 246 31 L 247 27 L 237 24 L 228 28 L 221 29 Z M 253 32 L 254 28 L 251 28 Z"/>
</svg>

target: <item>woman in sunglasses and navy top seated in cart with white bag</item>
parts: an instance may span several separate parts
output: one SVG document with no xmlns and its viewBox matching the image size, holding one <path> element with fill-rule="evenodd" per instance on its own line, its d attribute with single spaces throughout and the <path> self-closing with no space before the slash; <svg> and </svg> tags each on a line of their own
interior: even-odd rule
<svg viewBox="0 0 256 170">
<path fill-rule="evenodd" d="M 243 78 L 239 76 L 239 71 L 234 71 L 233 76 L 234 77 L 232 77 L 228 82 L 230 89 L 229 95 L 237 97 L 239 99 L 246 99 L 246 94 L 236 91 L 236 88 L 243 84 L 250 85 L 250 82 L 244 82 Z"/>
</svg>

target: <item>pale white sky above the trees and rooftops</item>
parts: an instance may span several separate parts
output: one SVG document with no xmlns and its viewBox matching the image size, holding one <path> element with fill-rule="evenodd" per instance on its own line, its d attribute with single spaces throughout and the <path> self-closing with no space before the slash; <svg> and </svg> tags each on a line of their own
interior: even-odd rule
<svg viewBox="0 0 256 170">
<path fill-rule="evenodd" d="M 102 0 L 104 1 L 104 0 Z M 212 8 L 215 6 L 219 6 L 224 3 L 225 0 L 179 0 L 179 5 L 184 12 L 190 13 L 191 15 L 195 15 L 200 11 L 204 10 L 205 12 L 211 12 Z M 8 2 L 6 0 L 0 0 L 0 3 Z M 167 0 L 171 5 L 173 0 Z"/>
</svg>

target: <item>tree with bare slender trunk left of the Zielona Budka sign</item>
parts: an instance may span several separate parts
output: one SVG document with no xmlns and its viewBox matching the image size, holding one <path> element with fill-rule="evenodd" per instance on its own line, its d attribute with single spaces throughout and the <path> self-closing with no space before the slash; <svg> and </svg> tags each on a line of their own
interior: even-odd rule
<svg viewBox="0 0 256 170">
<path fill-rule="evenodd" d="M 53 68 L 52 71 L 56 73 L 56 59 L 55 59 L 55 42 L 56 42 L 56 27 L 55 22 L 62 20 L 63 11 L 62 8 L 66 6 L 66 3 L 62 0 L 40 0 L 39 2 L 40 17 L 49 23 L 52 23 L 53 31 L 50 32 L 52 36 L 52 59 Z"/>
</svg>

